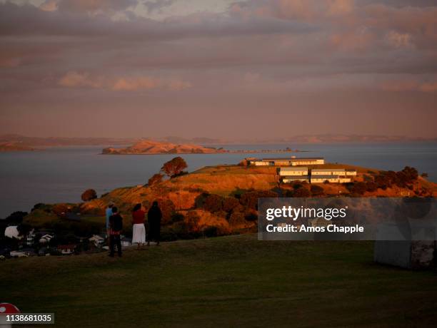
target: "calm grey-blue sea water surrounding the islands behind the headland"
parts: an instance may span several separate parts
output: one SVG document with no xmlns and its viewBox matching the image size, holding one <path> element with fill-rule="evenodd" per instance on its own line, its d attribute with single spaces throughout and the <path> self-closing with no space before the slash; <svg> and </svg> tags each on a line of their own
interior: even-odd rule
<svg viewBox="0 0 437 328">
<path fill-rule="evenodd" d="M 283 149 L 287 145 L 226 145 L 226 149 Z M 323 156 L 331 163 L 348 163 L 383 170 L 414 166 L 437 182 L 437 144 L 289 145 L 310 150 L 298 157 Z M 36 152 L 0 153 L 0 217 L 16 210 L 29 211 L 36 203 L 79 202 L 81 193 L 94 188 L 140 185 L 174 155 L 99 155 L 102 147 L 49 148 Z M 250 156 L 257 156 L 250 154 Z M 196 170 L 205 165 L 233 164 L 245 154 L 181 155 Z M 285 153 L 259 157 L 288 156 Z"/>
</svg>

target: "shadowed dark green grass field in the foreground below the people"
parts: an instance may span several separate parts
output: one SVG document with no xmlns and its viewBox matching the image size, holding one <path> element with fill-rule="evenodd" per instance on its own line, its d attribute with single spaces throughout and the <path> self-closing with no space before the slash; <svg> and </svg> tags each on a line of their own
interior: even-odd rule
<svg viewBox="0 0 437 328">
<path fill-rule="evenodd" d="M 436 272 L 376 265 L 371 242 L 187 240 L 0 263 L 0 302 L 59 327 L 423 327 Z"/>
</svg>

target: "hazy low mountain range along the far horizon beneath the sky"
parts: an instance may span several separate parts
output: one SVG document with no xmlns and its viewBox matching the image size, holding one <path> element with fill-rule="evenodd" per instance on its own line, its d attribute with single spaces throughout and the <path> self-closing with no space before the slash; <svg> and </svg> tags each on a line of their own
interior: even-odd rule
<svg viewBox="0 0 437 328">
<path fill-rule="evenodd" d="M 402 135 L 296 135 L 287 138 L 181 138 L 167 136 L 161 138 L 64 138 L 64 137 L 27 137 L 24 135 L 0 135 L 0 151 L 35 150 L 41 147 L 69 146 L 69 145 L 133 145 L 142 140 L 156 140 L 162 143 L 176 145 L 226 145 L 226 144 L 266 144 L 266 143 L 396 143 L 396 142 L 437 142 L 437 138 L 410 138 Z"/>
</svg>

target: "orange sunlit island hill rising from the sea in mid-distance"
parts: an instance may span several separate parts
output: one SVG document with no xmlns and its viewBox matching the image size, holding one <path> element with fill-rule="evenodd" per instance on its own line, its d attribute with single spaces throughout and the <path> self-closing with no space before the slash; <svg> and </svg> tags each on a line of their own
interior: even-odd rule
<svg viewBox="0 0 437 328">
<path fill-rule="evenodd" d="M 105 155 L 132 155 L 132 154 L 204 154 L 226 153 L 226 150 L 204 147 L 194 144 L 177 144 L 155 140 L 141 140 L 127 148 L 104 148 Z"/>
</svg>

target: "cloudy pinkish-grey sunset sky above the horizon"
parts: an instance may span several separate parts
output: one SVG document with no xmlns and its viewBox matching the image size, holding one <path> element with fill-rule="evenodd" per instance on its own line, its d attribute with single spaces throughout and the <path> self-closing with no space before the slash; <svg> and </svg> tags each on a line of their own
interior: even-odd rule
<svg viewBox="0 0 437 328">
<path fill-rule="evenodd" d="M 0 134 L 437 137 L 437 1 L 0 0 Z"/>
</svg>

